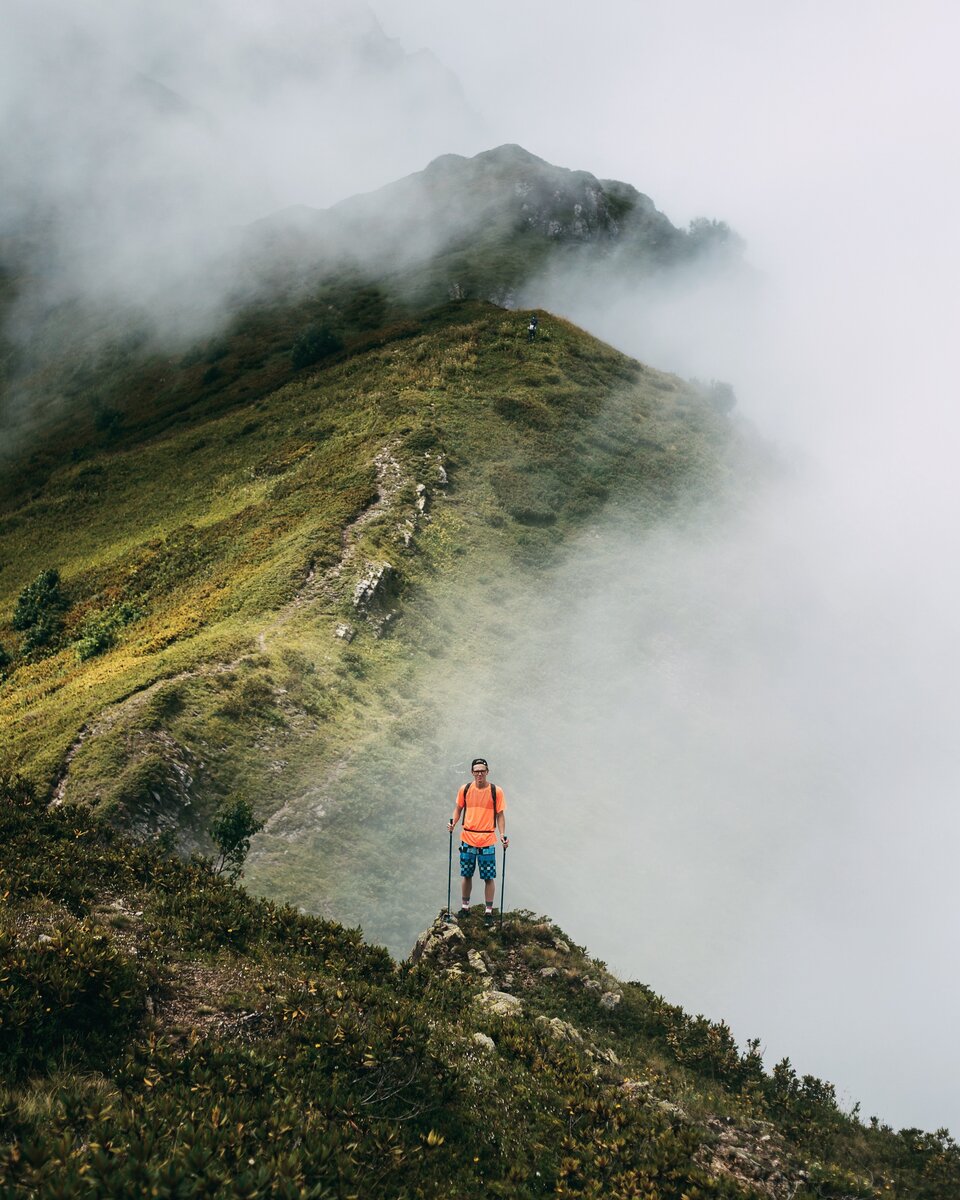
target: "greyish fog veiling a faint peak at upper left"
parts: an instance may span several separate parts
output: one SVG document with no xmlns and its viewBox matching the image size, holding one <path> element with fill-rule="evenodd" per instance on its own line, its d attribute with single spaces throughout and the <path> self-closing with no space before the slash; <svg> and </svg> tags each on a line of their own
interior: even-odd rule
<svg viewBox="0 0 960 1200">
<path fill-rule="evenodd" d="M 2 10 L 0 239 L 32 247 L 31 316 L 79 295 L 196 334 L 240 282 L 239 227 L 379 187 L 480 128 L 433 55 L 347 0 Z"/>
</svg>

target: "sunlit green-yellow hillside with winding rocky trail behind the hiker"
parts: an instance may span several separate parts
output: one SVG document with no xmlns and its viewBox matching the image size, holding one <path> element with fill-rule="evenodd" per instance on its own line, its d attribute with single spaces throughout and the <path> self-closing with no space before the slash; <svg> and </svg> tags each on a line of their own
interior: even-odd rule
<svg viewBox="0 0 960 1200">
<path fill-rule="evenodd" d="M 461 302 L 252 403 L 50 443 L 0 518 L 7 761 L 184 847 L 238 790 L 277 834 L 293 802 L 336 799 L 354 832 L 331 830 L 324 872 L 362 875 L 358 828 L 403 840 L 426 815 L 377 811 L 397 779 L 352 780 L 360 750 L 430 756 L 462 665 L 548 619 L 538 581 L 600 512 L 642 528 L 754 469 L 722 407 L 547 314 L 528 343 L 526 319 Z M 410 902 L 379 929 L 394 946 Z M 331 911 L 368 916 L 352 904 Z"/>
</svg>

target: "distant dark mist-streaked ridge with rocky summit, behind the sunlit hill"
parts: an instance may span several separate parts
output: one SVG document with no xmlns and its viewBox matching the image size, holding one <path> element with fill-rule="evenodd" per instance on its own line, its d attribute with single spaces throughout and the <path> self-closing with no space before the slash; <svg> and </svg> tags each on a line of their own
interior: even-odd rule
<svg viewBox="0 0 960 1200">
<path fill-rule="evenodd" d="M 238 230 L 173 294 L 122 308 L 74 295 L 44 268 L 55 230 L 0 236 L 0 467 L 35 487 L 55 454 L 119 443 L 248 403 L 290 378 L 314 326 L 347 344 L 450 299 L 548 307 L 547 277 L 575 270 L 632 288 L 718 256 L 722 223 L 677 229 L 629 184 L 551 166 L 521 146 L 461 158 L 328 210 L 294 209 Z M 179 353 L 172 353 L 170 347 Z"/>
</svg>

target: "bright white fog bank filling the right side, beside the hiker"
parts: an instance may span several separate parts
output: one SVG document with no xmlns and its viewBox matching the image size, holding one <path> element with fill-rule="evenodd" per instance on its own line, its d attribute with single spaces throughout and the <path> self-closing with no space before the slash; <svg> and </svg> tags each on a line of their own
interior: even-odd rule
<svg viewBox="0 0 960 1200">
<path fill-rule="evenodd" d="M 584 32 L 563 5 L 376 8 L 494 140 L 746 239 L 736 283 L 558 304 L 731 382 L 793 463 L 698 535 L 602 533 L 617 553 L 568 587 L 552 649 L 532 636 L 526 713 L 478 715 L 512 900 L 864 1112 L 956 1130 L 960 18 L 605 4 Z"/>
</svg>

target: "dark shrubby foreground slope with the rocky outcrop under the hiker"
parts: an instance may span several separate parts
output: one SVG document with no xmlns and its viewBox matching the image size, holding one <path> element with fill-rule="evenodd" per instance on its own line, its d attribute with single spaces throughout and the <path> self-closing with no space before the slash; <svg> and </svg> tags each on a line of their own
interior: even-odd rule
<svg viewBox="0 0 960 1200">
<path fill-rule="evenodd" d="M 946 1130 L 845 1115 L 547 918 L 395 964 L 0 781 L 0 1194 L 948 1200 Z"/>
</svg>

